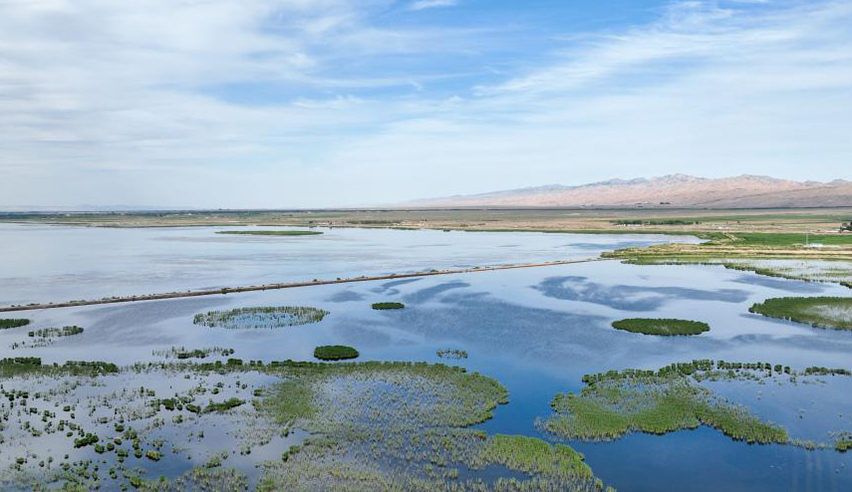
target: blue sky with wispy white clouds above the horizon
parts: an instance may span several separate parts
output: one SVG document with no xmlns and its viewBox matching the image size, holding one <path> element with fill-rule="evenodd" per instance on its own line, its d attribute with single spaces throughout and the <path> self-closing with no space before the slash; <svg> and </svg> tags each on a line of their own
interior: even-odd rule
<svg viewBox="0 0 852 492">
<path fill-rule="evenodd" d="M 0 206 L 852 179 L 852 0 L 0 0 Z"/>
</svg>

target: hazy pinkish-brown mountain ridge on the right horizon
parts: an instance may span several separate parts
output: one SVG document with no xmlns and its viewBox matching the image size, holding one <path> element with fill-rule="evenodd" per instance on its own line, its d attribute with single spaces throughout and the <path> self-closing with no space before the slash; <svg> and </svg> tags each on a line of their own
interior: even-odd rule
<svg viewBox="0 0 852 492">
<path fill-rule="evenodd" d="M 551 184 L 476 195 L 413 200 L 409 207 L 852 207 L 852 182 L 792 181 L 743 174 L 700 178 L 669 174 L 578 186 Z"/>
</svg>

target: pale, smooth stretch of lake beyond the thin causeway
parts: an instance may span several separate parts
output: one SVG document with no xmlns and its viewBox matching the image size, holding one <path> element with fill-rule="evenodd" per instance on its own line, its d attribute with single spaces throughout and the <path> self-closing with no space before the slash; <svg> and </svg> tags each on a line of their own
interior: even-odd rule
<svg viewBox="0 0 852 492">
<path fill-rule="evenodd" d="M 614 248 L 697 241 L 384 229 L 317 229 L 324 234 L 292 237 L 216 234 L 250 229 L 0 224 L 0 304 L 580 259 Z"/>
</svg>

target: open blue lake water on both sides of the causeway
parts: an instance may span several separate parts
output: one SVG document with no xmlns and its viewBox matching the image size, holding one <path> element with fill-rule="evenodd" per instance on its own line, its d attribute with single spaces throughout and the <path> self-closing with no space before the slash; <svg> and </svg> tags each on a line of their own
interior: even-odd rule
<svg viewBox="0 0 852 492">
<path fill-rule="evenodd" d="M 63 300 L 581 258 L 627 243 L 670 241 L 354 229 L 317 237 L 234 238 L 217 237 L 215 230 L 2 226 L 0 300 Z M 449 363 L 492 376 L 509 389 L 510 403 L 483 429 L 552 440 L 536 429 L 535 419 L 550 415 L 555 393 L 579 390 L 585 373 L 656 369 L 696 358 L 766 361 L 799 369 L 852 367 L 852 334 L 747 311 L 767 297 L 848 293 L 835 285 L 768 279 L 721 267 L 598 262 L 33 312 L 28 316 L 35 327 L 76 324 L 86 331 L 50 347 L 27 350 L 10 349 L 26 339 L 26 333 L 0 332 L 0 357 L 126 364 L 154 360 L 152 351 L 184 345 L 229 347 L 236 357 L 268 361 L 311 359 L 315 346 L 340 343 L 357 347 L 362 360 L 447 362 L 435 351 L 458 348 L 470 357 Z M 370 309 L 370 303 L 386 300 L 404 302 L 407 308 Z M 314 306 L 331 314 L 319 324 L 279 330 L 217 330 L 192 324 L 193 315 L 201 311 L 267 305 Z M 624 317 L 697 319 L 710 323 L 712 330 L 699 337 L 663 339 L 609 327 Z M 784 425 L 794 438 L 831 441 L 832 431 L 852 430 L 852 378 L 822 379 L 798 386 L 711 386 Z M 750 446 L 707 428 L 571 444 L 586 454 L 597 476 L 621 491 L 852 490 L 852 454 Z"/>
</svg>

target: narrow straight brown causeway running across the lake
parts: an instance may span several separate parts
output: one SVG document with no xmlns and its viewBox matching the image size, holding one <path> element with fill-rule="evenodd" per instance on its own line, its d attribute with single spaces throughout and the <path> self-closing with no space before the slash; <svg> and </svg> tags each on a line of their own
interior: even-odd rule
<svg viewBox="0 0 852 492">
<path fill-rule="evenodd" d="M 474 268 L 458 268 L 449 270 L 429 270 L 426 272 L 417 273 L 392 273 L 389 275 L 379 275 L 374 277 L 351 277 L 334 280 L 312 280 L 310 282 L 289 282 L 281 284 L 265 284 L 265 285 L 250 285 L 245 287 L 223 287 L 221 289 L 195 290 L 187 292 L 167 292 L 163 294 L 146 294 L 138 296 L 126 297 L 108 297 L 104 299 L 95 299 L 88 301 L 68 301 L 68 302 L 51 302 L 46 304 L 27 304 L 22 306 L 6 306 L 0 307 L 0 313 L 10 313 L 15 311 L 35 311 L 39 309 L 56 309 L 65 307 L 77 306 L 92 306 L 96 304 L 119 304 L 124 302 L 140 302 L 140 301 L 156 301 L 161 299 L 180 299 L 183 297 L 202 297 L 215 296 L 225 294 L 236 294 L 239 292 L 256 292 L 260 290 L 278 290 L 278 289 L 293 289 L 296 287 L 310 287 L 313 285 L 330 285 L 330 284 L 351 284 L 355 282 L 373 282 L 376 280 L 398 280 L 401 278 L 415 277 L 431 277 L 435 275 L 455 275 L 460 273 L 478 273 L 478 272 L 493 272 L 495 270 L 513 270 L 517 268 L 539 268 L 559 265 L 572 265 L 576 263 L 590 263 L 593 261 L 616 261 L 608 258 L 587 258 L 584 260 L 564 260 L 564 261 L 547 261 L 541 263 L 521 263 L 518 265 L 496 265 Z"/>
</svg>

